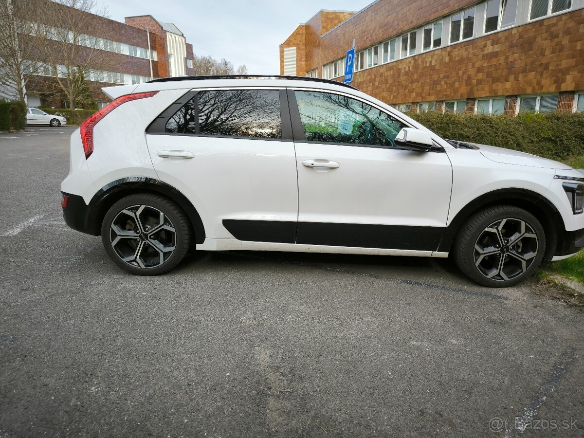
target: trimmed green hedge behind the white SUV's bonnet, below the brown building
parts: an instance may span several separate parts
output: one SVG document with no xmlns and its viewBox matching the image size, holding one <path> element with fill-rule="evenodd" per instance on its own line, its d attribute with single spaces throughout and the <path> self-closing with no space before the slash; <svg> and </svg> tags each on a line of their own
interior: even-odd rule
<svg viewBox="0 0 584 438">
<path fill-rule="evenodd" d="M 564 160 L 584 155 L 584 113 L 482 114 L 409 113 L 441 137 L 529 152 Z"/>
</svg>

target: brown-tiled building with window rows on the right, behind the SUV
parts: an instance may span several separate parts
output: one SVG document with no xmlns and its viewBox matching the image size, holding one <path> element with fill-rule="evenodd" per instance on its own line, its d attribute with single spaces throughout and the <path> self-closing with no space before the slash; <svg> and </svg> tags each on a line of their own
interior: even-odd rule
<svg viewBox="0 0 584 438">
<path fill-rule="evenodd" d="M 584 111 L 584 0 L 377 0 L 319 11 L 280 46 L 280 74 L 343 81 L 400 110 Z"/>
</svg>

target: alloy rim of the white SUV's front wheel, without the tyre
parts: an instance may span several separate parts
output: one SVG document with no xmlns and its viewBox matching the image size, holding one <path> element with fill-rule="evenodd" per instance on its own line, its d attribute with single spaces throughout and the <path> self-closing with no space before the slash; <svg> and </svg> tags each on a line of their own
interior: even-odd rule
<svg viewBox="0 0 584 438">
<path fill-rule="evenodd" d="M 508 281 L 525 273 L 536 259 L 537 235 L 526 221 L 498 220 L 479 234 L 474 263 L 486 279 Z"/>
</svg>

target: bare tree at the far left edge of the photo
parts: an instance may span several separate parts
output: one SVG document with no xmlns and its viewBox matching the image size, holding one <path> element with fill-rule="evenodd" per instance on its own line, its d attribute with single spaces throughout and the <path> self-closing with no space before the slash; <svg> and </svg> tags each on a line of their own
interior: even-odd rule
<svg viewBox="0 0 584 438">
<path fill-rule="evenodd" d="M 23 19 L 34 8 L 32 0 L 0 0 L 0 85 L 13 88 L 25 102 L 25 83 L 40 73 L 39 44 L 30 21 Z"/>
</svg>

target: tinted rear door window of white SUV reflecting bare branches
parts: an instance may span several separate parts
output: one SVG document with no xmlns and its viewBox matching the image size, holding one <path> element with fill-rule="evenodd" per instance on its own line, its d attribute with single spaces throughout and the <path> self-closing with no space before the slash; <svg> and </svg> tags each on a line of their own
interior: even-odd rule
<svg viewBox="0 0 584 438">
<path fill-rule="evenodd" d="M 278 90 L 200 91 L 166 123 L 167 133 L 281 138 Z"/>
</svg>

